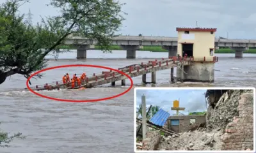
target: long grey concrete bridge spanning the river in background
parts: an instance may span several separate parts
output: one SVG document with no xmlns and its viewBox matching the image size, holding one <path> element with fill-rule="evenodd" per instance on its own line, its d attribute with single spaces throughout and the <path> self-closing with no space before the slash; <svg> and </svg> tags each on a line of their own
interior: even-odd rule
<svg viewBox="0 0 256 153">
<path fill-rule="evenodd" d="M 135 59 L 136 50 L 143 46 L 161 46 L 169 50 L 169 57 L 177 55 L 177 37 L 116 36 L 112 40 L 112 45 L 119 45 L 123 50 L 127 50 L 127 59 Z M 93 49 L 97 45 L 97 41 L 70 36 L 65 40 L 65 44 L 77 47 L 77 59 L 86 59 L 86 50 Z M 248 50 L 249 47 L 256 48 L 256 40 L 215 39 L 215 48 L 221 47 L 230 47 L 232 50 L 236 50 L 235 57 L 241 58 L 244 50 Z"/>
</svg>

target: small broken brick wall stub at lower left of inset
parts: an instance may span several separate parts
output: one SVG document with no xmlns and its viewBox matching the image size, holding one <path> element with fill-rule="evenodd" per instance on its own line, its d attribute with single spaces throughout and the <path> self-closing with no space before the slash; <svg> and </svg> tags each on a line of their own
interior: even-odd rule
<svg viewBox="0 0 256 153">
<path fill-rule="evenodd" d="M 160 131 L 148 131 L 145 140 L 142 142 L 142 150 L 156 150 L 161 138 L 162 137 Z"/>
</svg>

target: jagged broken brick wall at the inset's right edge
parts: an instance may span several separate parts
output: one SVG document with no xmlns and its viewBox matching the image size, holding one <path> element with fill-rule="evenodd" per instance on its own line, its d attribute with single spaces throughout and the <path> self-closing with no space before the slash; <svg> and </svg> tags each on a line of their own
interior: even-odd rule
<svg viewBox="0 0 256 153">
<path fill-rule="evenodd" d="M 221 150 L 253 150 L 253 94 L 241 95 L 238 111 L 221 137 Z"/>
</svg>

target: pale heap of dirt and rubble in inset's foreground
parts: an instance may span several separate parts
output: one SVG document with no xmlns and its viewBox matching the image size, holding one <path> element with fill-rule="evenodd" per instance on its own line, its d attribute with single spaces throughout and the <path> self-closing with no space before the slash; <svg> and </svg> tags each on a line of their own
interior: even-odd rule
<svg viewBox="0 0 256 153">
<path fill-rule="evenodd" d="M 157 150 L 220 150 L 221 131 L 193 131 L 179 137 L 162 136 Z"/>
</svg>

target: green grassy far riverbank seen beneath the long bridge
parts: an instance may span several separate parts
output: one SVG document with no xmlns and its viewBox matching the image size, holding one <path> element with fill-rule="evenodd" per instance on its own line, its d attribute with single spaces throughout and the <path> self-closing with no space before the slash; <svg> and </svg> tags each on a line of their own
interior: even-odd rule
<svg viewBox="0 0 256 153">
<path fill-rule="evenodd" d="M 61 48 L 67 48 L 65 46 Z M 74 47 L 70 47 L 72 49 Z M 95 46 L 95 50 L 99 50 L 99 46 Z M 113 45 L 110 47 L 110 50 L 122 50 L 120 46 Z M 162 47 L 159 46 L 144 46 L 143 49 L 140 49 L 141 51 L 151 51 L 151 52 L 168 52 L 168 50 L 164 50 Z M 230 48 L 221 48 L 220 50 L 215 50 L 215 53 L 218 54 L 232 54 L 235 53 L 235 50 L 231 50 Z M 256 54 L 256 49 L 249 49 L 244 51 L 243 53 L 249 53 L 249 54 Z"/>
</svg>

